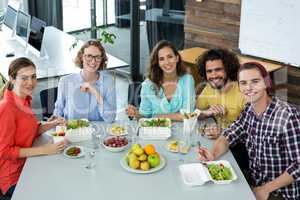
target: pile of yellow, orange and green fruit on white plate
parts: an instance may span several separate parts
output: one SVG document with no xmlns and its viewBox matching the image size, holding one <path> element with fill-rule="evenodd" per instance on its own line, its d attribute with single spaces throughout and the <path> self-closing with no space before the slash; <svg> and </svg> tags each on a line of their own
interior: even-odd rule
<svg viewBox="0 0 300 200">
<path fill-rule="evenodd" d="M 134 144 L 127 153 L 127 163 L 132 169 L 149 171 L 160 165 L 160 156 L 153 144 Z"/>
</svg>

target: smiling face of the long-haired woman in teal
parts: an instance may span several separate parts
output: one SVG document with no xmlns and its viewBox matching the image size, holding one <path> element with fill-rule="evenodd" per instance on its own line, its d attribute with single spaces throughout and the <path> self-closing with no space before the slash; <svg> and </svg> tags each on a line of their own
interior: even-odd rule
<svg viewBox="0 0 300 200">
<path fill-rule="evenodd" d="M 158 51 L 158 65 L 164 74 L 176 74 L 178 56 L 170 47 L 164 47 Z"/>
</svg>

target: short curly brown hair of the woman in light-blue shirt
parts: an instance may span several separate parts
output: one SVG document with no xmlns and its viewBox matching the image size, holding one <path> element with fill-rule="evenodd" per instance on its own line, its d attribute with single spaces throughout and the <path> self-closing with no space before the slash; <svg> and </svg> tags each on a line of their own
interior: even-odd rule
<svg viewBox="0 0 300 200">
<path fill-rule="evenodd" d="M 105 49 L 103 48 L 101 42 L 99 40 L 89 40 L 87 41 L 86 43 L 84 43 L 82 45 L 82 47 L 80 48 L 80 50 L 78 51 L 77 53 L 77 56 L 75 58 L 75 65 L 78 66 L 80 69 L 83 68 L 83 61 L 82 61 L 82 56 L 84 54 L 84 49 L 90 47 L 90 46 L 95 46 L 97 47 L 100 52 L 101 52 L 101 57 L 102 57 L 102 60 L 101 60 L 101 63 L 99 65 L 99 71 L 103 70 L 106 68 L 106 64 L 107 64 L 107 55 L 105 53 Z"/>
</svg>

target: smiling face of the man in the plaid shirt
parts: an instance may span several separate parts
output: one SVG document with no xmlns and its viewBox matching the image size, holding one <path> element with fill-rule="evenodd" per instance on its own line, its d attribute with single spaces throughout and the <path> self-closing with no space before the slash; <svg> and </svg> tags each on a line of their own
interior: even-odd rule
<svg viewBox="0 0 300 200">
<path fill-rule="evenodd" d="M 257 69 L 245 69 L 239 73 L 239 86 L 246 102 L 256 104 L 268 98 L 264 78 Z"/>
</svg>

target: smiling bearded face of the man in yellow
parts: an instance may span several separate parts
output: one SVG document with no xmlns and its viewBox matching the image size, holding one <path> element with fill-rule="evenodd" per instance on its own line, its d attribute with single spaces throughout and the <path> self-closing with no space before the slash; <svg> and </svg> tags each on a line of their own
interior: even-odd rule
<svg viewBox="0 0 300 200">
<path fill-rule="evenodd" d="M 205 64 L 206 78 L 214 89 L 222 89 L 227 82 L 227 75 L 222 60 L 208 60 Z"/>
</svg>

